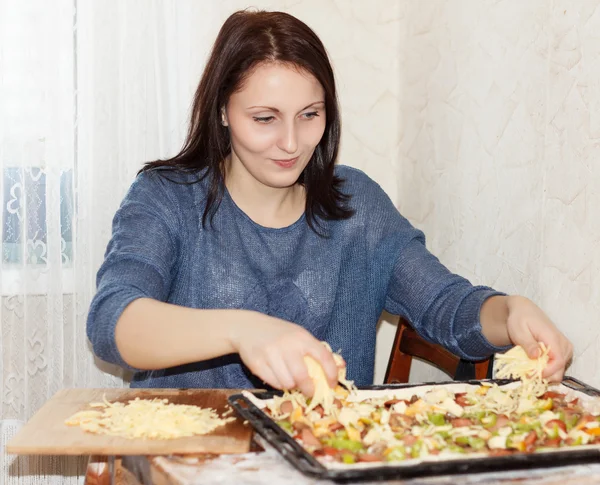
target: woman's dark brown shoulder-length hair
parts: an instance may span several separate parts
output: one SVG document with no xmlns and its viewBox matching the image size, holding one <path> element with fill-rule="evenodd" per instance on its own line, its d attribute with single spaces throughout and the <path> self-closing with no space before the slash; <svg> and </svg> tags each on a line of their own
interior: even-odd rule
<svg viewBox="0 0 600 485">
<path fill-rule="evenodd" d="M 231 150 L 229 130 L 221 124 L 221 109 L 241 89 L 252 69 L 264 62 L 283 62 L 309 72 L 325 91 L 326 125 L 298 182 L 306 189 L 306 218 L 318 234 L 323 220 L 347 219 L 353 210 L 350 196 L 334 175 L 340 144 L 340 113 L 333 69 L 325 47 L 306 24 L 283 12 L 240 11 L 221 27 L 192 106 L 187 138 L 179 154 L 147 163 L 141 171 L 173 168 L 208 177 L 209 189 L 202 217 L 212 220 L 225 190 L 225 160 Z M 162 170 L 161 170 L 162 172 Z M 163 172 L 164 173 L 164 172 Z"/>
</svg>

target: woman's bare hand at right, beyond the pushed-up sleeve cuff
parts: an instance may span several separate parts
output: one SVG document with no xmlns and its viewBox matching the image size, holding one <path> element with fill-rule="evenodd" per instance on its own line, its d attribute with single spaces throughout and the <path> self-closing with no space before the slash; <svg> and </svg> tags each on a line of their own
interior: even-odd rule
<svg viewBox="0 0 600 485">
<path fill-rule="evenodd" d="M 535 359 L 540 355 L 539 342 L 543 342 L 550 349 L 543 376 L 551 382 L 560 382 L 573 357 L 573 344 L 531 300 L 509 296 L 506 305 L 506 329 L 512 343 L 523 347 L 527 355 Z"/>
</svg>

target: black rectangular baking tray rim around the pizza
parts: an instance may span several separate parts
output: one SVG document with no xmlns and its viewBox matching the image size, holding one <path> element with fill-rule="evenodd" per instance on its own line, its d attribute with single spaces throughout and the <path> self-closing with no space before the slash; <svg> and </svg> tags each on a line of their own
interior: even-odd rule
<svg viewBox="0 0 600 485">
<path fill-rule="evenodd" d="M 496 383 L 500 386 L 513 382 L 509 379 L 469 380 L 464 384 Z M 565 386 L 591 396 L 600 396 L 600 390 L 585 384 L 573 377 L 565 377 Z M 427 382 L 418 384 L 386 384 L 359 387 L 362 390 L 406 389 L 426 385 L 457 384 L 456 381 Z M 280 391 L 259 391 L 254 393 L 259 399 L 270 399 L 281 396 Z M 385 465 L 368 468 L 328 469 L 306 451 L 294 438 L 281 429 L 266 413 L 261 411 L 243 394 L 229 397 L 230 405 L 252 427 L 273 446 L 289 463 L 303 474 L 335 482 L 374 481 L 402 478 L 416 478 L 432 475 L 455 475 L 466 473 L 483 473 L 498 470 L 517 470 L 523 468 L 545 468 L 600 461 L 600 449 L 577 449 L 572 451 L 555 451 L 550 453 L 515 453 L 512 455 L 473 458 L 471 460 L 427 461 L 415 465 Z"/>
</svg>

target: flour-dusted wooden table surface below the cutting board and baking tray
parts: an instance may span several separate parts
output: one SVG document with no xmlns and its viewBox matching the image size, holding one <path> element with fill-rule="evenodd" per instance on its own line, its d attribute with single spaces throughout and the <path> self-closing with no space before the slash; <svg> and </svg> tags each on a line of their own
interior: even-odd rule
<svg viewBox="0 0 600 485">
<path fill-rule="evenodd" d="M 116 485 L 333 485 L 305 477 L 268 444 L 242 455 L 131 457 L 117 466 Z M 86 485 L 108 485 L 88 481 Z M 363 485 L 590 485 L 600 484 L 600 463 L 471 475 L 450 475 Z"/>
</svg>

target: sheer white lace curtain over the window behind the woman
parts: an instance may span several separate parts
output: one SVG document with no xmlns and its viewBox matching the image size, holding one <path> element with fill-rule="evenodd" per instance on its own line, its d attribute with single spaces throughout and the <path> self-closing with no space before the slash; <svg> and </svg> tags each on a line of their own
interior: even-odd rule
<svg viewBox="0 0 600 485">
<path fill-rule="evenodd" d="M 81 481 L 3 448 L 59 389 L 127 385 L 89 349 L 95 273 L 142 162 L 181 145 L 218 3 L 0 0 L 0 484 Z"/>
</svg>

